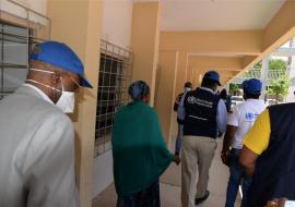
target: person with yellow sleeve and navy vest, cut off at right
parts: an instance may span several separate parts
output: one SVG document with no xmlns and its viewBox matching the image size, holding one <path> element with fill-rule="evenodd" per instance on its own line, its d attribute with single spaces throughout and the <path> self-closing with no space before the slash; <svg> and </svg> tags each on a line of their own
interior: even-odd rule
<svg viewBox="0 0 295 207">
<path fill-rule="evenodd" d="M 252 184 L 247 207 L 268 200 L 295 199 L 295 104 L 271 106 L 257 119 L 244 139 L 239 157 Z"/>
</svg>

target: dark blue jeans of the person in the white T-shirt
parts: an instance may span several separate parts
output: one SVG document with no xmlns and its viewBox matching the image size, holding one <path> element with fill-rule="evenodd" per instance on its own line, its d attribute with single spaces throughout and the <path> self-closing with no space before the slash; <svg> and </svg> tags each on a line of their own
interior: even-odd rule
<svg viewBox="0 0 295 207">
<path fill-rule="evenodd" d="M 247 192 L 251 185 L 251 179 L 247 178 L 245 174 L 245 171 L 243 170 L 243 167 L 238 162 L 238 157 L 240 154 L 240 149 L 233 149 L 231 155 L 231 162 L 229 162 L 229 181 L 227 185 L 227 192 L 226 192 L 226 203 L 225 207 L 234 207 L 236 202 L 236 196 L 238 193 L 239 184 L 243 180 L 243 200 L 241 200 L 241 207 L 246 206 L 246 199 L 247 199 Z"/>
</svg>

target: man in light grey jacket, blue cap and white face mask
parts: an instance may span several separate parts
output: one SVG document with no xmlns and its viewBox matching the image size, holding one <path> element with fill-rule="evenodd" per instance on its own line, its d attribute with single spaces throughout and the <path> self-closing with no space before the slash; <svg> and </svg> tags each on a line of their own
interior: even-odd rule
<svg viewBox="0 0 295 207">
<path fill-rule="evenodd" d="M 64 113 L 91 87 L 64 44 L 39 44 L 26 82 L 0 107 L 0 206 L 76 207 L 74 131 Z"/>
</svg>

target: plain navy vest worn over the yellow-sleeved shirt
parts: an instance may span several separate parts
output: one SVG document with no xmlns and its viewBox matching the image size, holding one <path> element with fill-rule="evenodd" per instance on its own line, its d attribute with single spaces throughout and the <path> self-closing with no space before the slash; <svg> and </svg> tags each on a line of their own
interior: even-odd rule
<svg viewBox="0 0 295 207">
<path fill-rule="evenodd" d="M 257 160 L 247 207 L 264 206 L 272 198 L 295 199 L 295 104 L 272 106 L 269 112 L 270 143 Z"/>
</svg>

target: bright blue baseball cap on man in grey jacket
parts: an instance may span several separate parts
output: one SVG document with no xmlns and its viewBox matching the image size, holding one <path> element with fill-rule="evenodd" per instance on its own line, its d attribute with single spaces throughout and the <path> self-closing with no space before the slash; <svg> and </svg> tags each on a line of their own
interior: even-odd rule
<svg viewBox="0 0 295 207">
<path fill-rule="evenodd" d="M 84 77 L 84 66 L 76 53 L 66 44 L 58 41 L 45 41 L 36 46 L 30 54 L 30 60 L 49 63 L 62 70 L 78 74 L 81 86 L 92 88 Z"/>
</svg>

